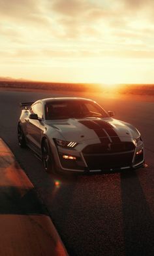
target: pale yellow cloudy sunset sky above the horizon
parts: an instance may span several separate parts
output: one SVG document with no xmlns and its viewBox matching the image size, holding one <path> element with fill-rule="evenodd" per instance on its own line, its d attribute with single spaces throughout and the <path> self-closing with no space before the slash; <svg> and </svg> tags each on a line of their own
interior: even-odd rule
<svg viewBox="0 0 154 256">
<path fill-rule="evenodd" d="M 0 77 L 154 84 L 153 0 L 0 0 Z"/>
</svg>

